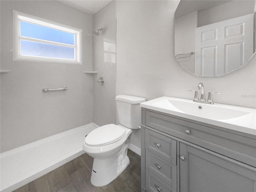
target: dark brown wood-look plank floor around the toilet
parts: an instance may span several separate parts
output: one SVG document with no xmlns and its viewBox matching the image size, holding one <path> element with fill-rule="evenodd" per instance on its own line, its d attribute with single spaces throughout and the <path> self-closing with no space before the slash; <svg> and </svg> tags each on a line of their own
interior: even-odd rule
<svg viewBox="0 0 256 192">
<path fill-rule="evenodd" d="M 140 192 L 140 156 L 128 150 L 130 164 L 109 185 L 91 184 L 93 158 L 83 154 L 13 192 Z"/>
</svg>

